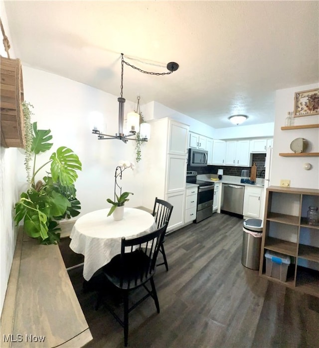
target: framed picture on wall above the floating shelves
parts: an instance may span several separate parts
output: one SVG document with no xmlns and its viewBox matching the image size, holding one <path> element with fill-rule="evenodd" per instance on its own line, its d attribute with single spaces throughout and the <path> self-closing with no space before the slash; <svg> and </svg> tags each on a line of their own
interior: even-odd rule
<svg viewBox="0 0 319 348">
<path fill-rule="evenodd" d="M 295 93 L 294 117 L 319 115 L 319 88 Z"/>
</svg>

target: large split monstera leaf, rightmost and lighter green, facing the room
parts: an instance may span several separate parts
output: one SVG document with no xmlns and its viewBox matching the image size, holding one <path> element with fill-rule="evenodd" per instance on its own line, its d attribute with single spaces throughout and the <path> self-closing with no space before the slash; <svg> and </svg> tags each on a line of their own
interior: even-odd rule
<svg viewBox="0 0 319 348">
<path fill-rule="evenodd" d="M 78 177 L 76 170 L 82 169 L 78 156 L 71 149 L 61 146 L 51 155 L 50 160 L 53 181 L 59 179 L 64 186 L 73 184 Z"/>
</svg>

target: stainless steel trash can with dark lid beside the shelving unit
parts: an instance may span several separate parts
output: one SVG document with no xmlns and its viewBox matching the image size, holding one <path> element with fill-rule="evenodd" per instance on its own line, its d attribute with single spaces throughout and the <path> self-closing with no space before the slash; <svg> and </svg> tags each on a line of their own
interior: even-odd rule
<svg viewBox="0 0 319 348">
<path fill-rule="evenodd" d="M 247 219 L 244 221 L 241 263 L 247 268 L 259 269 L 262 230 L 262 220 Z"/>
</svg>

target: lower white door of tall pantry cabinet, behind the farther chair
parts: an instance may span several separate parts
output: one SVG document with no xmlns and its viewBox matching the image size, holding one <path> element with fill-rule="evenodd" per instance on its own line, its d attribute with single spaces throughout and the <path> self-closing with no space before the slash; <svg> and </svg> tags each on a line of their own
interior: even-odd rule
<svg viewBox="0 0 319 348">
<path fill-rule="evenodd" d="M 166 200 L 173 206 L 167 232 L 180 228 L 184 224 L 185 191 L 166 194 Z"/>
</svg>

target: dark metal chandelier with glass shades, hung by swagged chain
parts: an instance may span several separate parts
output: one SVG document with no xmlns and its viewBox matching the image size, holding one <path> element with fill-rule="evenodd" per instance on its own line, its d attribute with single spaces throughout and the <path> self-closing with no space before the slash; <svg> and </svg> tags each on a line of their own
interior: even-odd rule
<svg viewBox="0 0 319 348">
<path fill-rule="evenodd" d="M 150 74 L 150 75 L 169 75 L 171 74 L 173 71 L 176 71 L 178 69 L 178 64 L 175 62 L 169 62 L 167 64 L 167 70 L 169 70 L 168 72 L 150 72 L 150 71 L 145 71 L 142 70 L 140 68 L 137 68 L 136 66 L 126 62 L 123 58 L 123 53 L 121 53 L 122 55 L 122 60 L 121 60 L 121 97 L 118 98 L 118 102 L 119 102 L 119 132 L 116 133 L 115 135 L 108 135 L 108 134 L 103 134 L 101 133 L 101 131 L 99 131 L 97 128 L 94 128 L 92 130 L 92 133 L 98 136 L 99 140 L 108 140 L 108 139 L 119 139 L 122 140 L 124 143 L 127 143 L 128 140 L 135 140 L 135 141 L 142 141 L 142 142 L 147 142 L 148 139 L 150 139 L 150 132 L 148 128 L 148 124 L 141 124 L 141 131 L 140 131 L 140 115 L 136 112 L 131 112 L 128 113 L 128 126 L 130 129 L 130 134 L 124 134 L 123 133 L 123 124 L 124 124 L 124 103 L 125 103 L 125 98 L 123 98 L 123 66 L 124 63 L 128 66 L 130 66 L 133 69 L 136 69 L 144 74 Z M 139 102 L 139 97 L 138 97 L 138 102 Z M 146 125 L 146 126 L 143 126 Z M 140 131 L 140 138 L 131 138 L 134 135 L 136 135 L 136 133 L 138 133 Z"/>
</svg>

